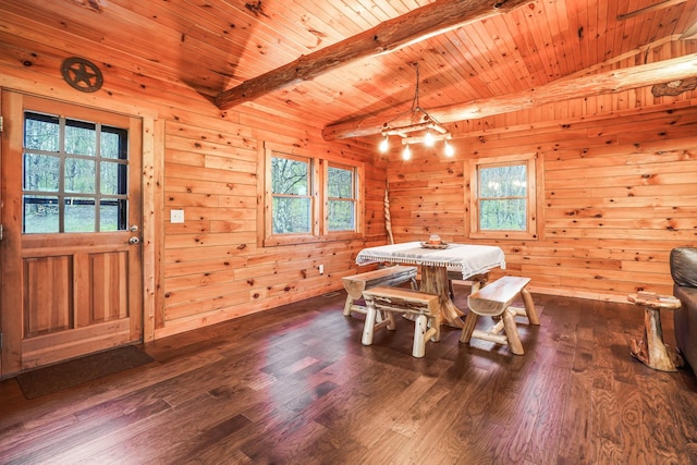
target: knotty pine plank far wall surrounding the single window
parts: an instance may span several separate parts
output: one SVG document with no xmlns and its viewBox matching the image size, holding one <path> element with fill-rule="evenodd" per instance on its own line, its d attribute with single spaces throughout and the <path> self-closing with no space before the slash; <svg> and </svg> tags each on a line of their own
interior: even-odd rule
<svg viewBox="0 0 697 465">
<path fill-rule="evenodd" d="M 505 272 L 531 278 L 537 292 L 616 302 L 638 290 L 672 293 L 671 248 L 697 246 L 695 91 L 655 98 L 640 88 L 458 126 L 452 159 L 415 146 L 409 161 L 390 154 L 395 242 L 438 233 L 500 245 Z M 526 152 L 545 166 L 540 238 L 469 240 L 467 160 Z"/>
</svg>

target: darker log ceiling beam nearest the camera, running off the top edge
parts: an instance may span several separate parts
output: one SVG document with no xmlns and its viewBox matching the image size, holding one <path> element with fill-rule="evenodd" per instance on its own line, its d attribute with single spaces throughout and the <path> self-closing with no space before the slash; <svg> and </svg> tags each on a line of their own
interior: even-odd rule
<svg viewBox="0 0 697 465">
<path fill-rule="evenodd" d="M 528 1 L 437 0 L 223 90 L 216 96 L 215 102 L 221 110 L 227 110 L 288 85 L 313 79 L 352 61 L 394 51 L 467 23 L 506 13 Z"/>
</svg>

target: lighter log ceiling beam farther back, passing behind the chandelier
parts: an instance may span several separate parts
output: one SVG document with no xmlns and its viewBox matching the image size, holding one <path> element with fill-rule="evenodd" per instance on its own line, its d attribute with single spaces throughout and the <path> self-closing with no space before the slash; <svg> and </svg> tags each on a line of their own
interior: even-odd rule
<svg viewBox="0 0 697 465">
<path fill-rule="evenodd" d="M 559 79 L 541 87 L 501 97 L 426 110 L 435 120 L 441 124 L 447 124 L 508 113 L 560 100 L 614 94 L 692 76 L 697 76 L 697 53 L 574 79 Z M 338 122 L 326 126 L 322 131 L 322 137 L 326 140 L 337 140 L 372 136 L 382 132 L 382 126 L 386 122 L 391 125 L 405 125 L 409 123 L 411 118 L 411 114 L 400 113 L 392 117 L 377 115 Z"/>
</svg>

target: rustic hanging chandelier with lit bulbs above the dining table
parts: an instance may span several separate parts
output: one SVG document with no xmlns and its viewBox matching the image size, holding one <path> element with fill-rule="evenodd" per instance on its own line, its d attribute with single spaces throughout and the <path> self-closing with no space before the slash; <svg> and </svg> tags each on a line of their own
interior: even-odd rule
<svg viewBox="0 0 697 465">
<path fill-rule="evenodd" d="M 412 108 L 406 113 L 395 118 L 382 124 L 382 142 L 378 146 L 379 150 L 384 154 L 390 149 L 390 136 L 402 137 L 402 158 L 408 160 L 412 158 L 412 150 L 409 144 L 424 144 L 427 147 L 432 147 L 438 140 L 443 140 L 443 151 L 447 157 L 452 157 L 455 150 L 452 145 L 448 143 L 452 138 L 450 131 L 440 124 L 433 117 L 428 114 L 418 103 L 418 63 L 414 63 L 416 69 L 416 87 L 414 89 L 414 99 L 412 100 Z M 406 123 L 405 123 L 406 121 Z"/>
</svg>

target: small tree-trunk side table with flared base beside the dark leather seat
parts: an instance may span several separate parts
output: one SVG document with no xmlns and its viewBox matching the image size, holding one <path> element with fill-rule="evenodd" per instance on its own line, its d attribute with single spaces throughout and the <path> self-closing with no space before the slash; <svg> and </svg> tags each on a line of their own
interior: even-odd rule
<svg viewBox="0 0 697 465">
<path fill-rule="evenodd" d="M 646 366 L 661 371 L 676 371 L 683 366 L 682 357 L 663 342 L 661 308 L 680 308 L 680 301 L 672 295 L 658 295 L 652 292 L 639 292 L 627 295 L 627 299 L 644 307 L 644 336 L 629 342 L 632 356 Z"/>
</svg>

